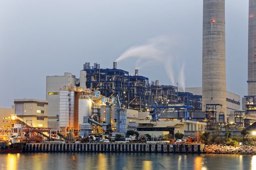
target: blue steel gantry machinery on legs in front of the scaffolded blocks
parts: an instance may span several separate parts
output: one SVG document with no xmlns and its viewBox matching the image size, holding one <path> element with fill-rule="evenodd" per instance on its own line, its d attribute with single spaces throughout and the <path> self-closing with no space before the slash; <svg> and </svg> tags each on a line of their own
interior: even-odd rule
<svg viewBox="0 0 256 170">
<path fill-rule="evenodd" d="M 188 108 L 191 108 L 193 106 L 191 105 L 172 105 L 172 106 L 157 106 L 156 102 L 153 102 L 152 106 L 149 106 L 149 108 L 153 109 L 153 111 L 150 112 L 150 115 L 152 116 L 152 121 L 157 121 L 161 114 L 163 113 L 164 109 L 182 109 L 185 113 L 185 121 L 189 119 L 188 117 Z"/>
</svg>

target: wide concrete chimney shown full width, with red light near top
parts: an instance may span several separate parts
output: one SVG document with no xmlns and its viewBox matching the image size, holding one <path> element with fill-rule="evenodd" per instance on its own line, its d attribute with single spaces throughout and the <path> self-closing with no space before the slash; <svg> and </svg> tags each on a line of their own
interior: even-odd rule
<svg viewBox="0 0 256 170">
<path fill-rule="evenodd" d="M 227 121 L 225 0 L 203 0 L 203 111 L 206 104 L 222 104 L 217 112 Z"/>
</svg>

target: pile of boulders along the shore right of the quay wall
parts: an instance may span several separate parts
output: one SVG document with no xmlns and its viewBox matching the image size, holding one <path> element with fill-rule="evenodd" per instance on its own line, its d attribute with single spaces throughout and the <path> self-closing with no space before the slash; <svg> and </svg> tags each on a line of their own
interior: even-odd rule
<svg viewBox="0 0 256 170">
<path fill-rule="evenodd" d="M 256 155 L 256 147 L 249 145 L 227 146 L 225 144 L 205 145 L 204 153 L 214 154 L 251 154 Z"/>
</svg>

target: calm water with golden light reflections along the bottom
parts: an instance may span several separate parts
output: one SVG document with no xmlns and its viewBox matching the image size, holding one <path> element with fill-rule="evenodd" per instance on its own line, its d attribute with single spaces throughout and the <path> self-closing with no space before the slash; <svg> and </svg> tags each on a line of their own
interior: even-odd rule
<svg viewBox="0 0 256 170">
<path fill-rule="evenodd" d="M 256 155 L 155 153 L 0 154 L 1 170 L 256 170 Z"/>
</svg>

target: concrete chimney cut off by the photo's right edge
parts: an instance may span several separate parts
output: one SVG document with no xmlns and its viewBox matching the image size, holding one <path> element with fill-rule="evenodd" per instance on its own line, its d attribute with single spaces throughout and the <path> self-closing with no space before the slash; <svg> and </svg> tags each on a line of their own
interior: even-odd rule
<svg viewBox="0 0 256 170">
<path fill-rule="evenodd" d="M 248 96 L 256 96 L 256 0 L 249 0 Z"/>
</svg>

